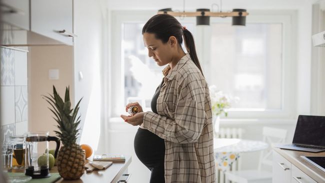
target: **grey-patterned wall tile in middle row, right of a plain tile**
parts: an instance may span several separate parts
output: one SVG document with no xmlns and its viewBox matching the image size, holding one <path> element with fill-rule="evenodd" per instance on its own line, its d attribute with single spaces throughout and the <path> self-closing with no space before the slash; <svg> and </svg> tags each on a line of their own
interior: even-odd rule
<svg viewBox="0 0 325 183">
<path fill-rule="evenodd" d="M 27 120 L 27 86 L 15 86 L 15 122 Z"/>
</svg>

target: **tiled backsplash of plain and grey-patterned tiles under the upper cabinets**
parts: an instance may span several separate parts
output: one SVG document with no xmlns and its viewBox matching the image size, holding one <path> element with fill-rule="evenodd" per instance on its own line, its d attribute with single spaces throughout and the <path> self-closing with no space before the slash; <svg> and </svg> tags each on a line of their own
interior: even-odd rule
<svg viewBox="0 0 325 183">
<path fill-rule="evenodd" d="M 1 134 L 27 132 L 27 53 L 0 48 Z"/>
</svg>

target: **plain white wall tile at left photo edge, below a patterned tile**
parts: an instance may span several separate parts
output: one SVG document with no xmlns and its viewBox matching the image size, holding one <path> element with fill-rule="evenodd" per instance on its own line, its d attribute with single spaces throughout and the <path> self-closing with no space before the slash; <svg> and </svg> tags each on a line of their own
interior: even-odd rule
<svg viewBox="0 0 325 183">
<path fill-rule="evenodd" d="M 11 124 L 15 121 L 14 86 L 0 86 L 1 90 L 1 123 Z"/>
</svg>

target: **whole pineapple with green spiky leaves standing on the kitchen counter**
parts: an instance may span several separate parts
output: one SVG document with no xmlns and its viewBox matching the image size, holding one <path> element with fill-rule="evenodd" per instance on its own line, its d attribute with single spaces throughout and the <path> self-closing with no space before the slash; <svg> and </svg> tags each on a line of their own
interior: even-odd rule
<svg viewBox="0 0 325 183">
<path fill-rule="evenodd" d="M 69 97 L 69 87 L 65 88 L 64 101 L 56 92 L 53 85 L 53 95 L 44 96 L 45 100 L 52 106 L 49 108 L 55 115 L 53 117 L 57 122 L 57 128 L 59 131 L 54 131 L 56 135 L 62 141 L 61 146 L 57 154 L 57 170 L 64 179 L 78 179 L 84 172 L 84 152 L 81 147 L 76 144 L 76 138 L 78 133 L 77 127 L 80 123 L 80 116 L 76 118 L 79 110 L 78 101 L 76 106 L 71 107 Z"/>
</svg>

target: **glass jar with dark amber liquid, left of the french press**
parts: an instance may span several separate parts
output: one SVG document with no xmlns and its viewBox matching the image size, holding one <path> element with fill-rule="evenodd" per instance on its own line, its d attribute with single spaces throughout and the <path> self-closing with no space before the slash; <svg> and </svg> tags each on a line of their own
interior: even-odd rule
<svg viewBox="0 0 325 183">
<path fill-rule="evenodd" d="M 14 135 L 9 137 L 9 141 L 13 143 L 12 168 L 24 168 L 25 137 L 22 135 Z"/>
</svg>

